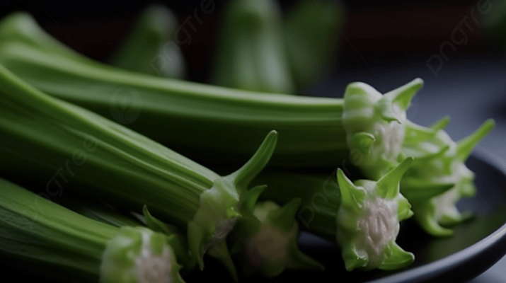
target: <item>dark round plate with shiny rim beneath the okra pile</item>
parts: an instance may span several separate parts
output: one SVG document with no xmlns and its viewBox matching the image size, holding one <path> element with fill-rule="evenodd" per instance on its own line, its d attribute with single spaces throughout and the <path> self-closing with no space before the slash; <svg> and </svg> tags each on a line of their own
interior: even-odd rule
<svg viewBox="0 0 506 283">
<path fill-rule="evenodd" d="M 478 194 L 459 202 L 459 209 L 471 210 L 475 217 L 456 226 L 455 235 L 449 238 L 428 236 L 413 221 L 405 221 L 401 225 L 398 243 L 415 254 L 416 260 L 410 267 L 396 272 L 346 272 L 340 260 L 340 251 L 333 243 L 304 233 L 301 236 L 301 249 L 322 262 L 326 266 L 325 272 L 291 271 L 268 280 L 253 276 L 241 277 L 239 281 L 416 283 L 466 282 L 473 279 L 506 254 L 506 166 L 480 150 L 469 158 L 467 165 L 476 173 Z M 204 272 L 185 276 L 188 283 L 213 278 L 221 279 L 220 282 L 231 282 L 221 265 L 211 258 L 207 258 L 206 262 Z M 5 267 L 0 265 L 4 279 L 12 272 L 16 272 L 16 282 L 35 279 L 28 278 L 29 275 L 23 275 L 25 272 L 18 270 L 7 272 Z M 37 281 L 45 282 L 40 278 Z"/>
</svg>

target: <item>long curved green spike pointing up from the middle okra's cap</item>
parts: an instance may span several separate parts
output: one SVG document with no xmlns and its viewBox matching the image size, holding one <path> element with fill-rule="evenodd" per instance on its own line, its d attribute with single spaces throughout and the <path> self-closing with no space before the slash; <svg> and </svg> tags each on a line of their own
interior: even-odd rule
<svg viewBox="0 0 506 283">
<path fill-rule="evenodd" d="M 265 137 L 263 143 L 260 145 L 258 150 L 255 152 L 253 157 L 250 158 L 246 164 L 243 165 L 238 171 L 229 175 L 236 187 L 244 188 L 248 187 L 249 183 L 255 178 L 260 171 L 267 165 L 270 157 L 274 153 L 277 143 L 277 132 L 272 130 Z"/>
</svg>

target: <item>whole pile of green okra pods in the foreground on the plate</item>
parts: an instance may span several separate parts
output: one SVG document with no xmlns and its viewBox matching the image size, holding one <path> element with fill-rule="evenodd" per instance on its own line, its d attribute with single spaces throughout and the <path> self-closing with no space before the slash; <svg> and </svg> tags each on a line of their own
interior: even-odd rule
<svg viewBox="0 0 506 283">
<path fill-rule="evenodd" d="M 260 2 L 231 9 L 262 13 Z M 251 36 L 277 38 L 260 24 Z M 235 50 L 236 42 L 224 45 Z M 134 51 L 122 50 L 116 63 Z M 406 267 L 414 255 L 396 244 L 399 222 L 413 216 L 427 233 L 451 236 L 449 227 L 469 216 L 456 202 L 476 192 L 464 163 L 494 125 L 455 142 L 446 117 L 432 127 L 410 122 L 421 79 L 384 94 L 355 82 L 343 98 L 317 98 L 127 71 L 70 50 L 25 13 L 0 23 L 0 64 L 0 173 L 47 189 L 0 180 L 0 256 L 86 282 L 183 282 L 204 268 L 205 254 L 234 279 L 231 254 L 266 277 L 323 270 L 299 250 L 296 218 L 321 192 L 326 201 L 302 228 L 335 241 L 347 270 Z M 361 178 L 341 168 L 330 182 L 287 171 L 343 161 Z M 222 166 L 235 169 L 209 169 Z M 53 202 L 64 184 L 127 213 Z"/>
</svg>

